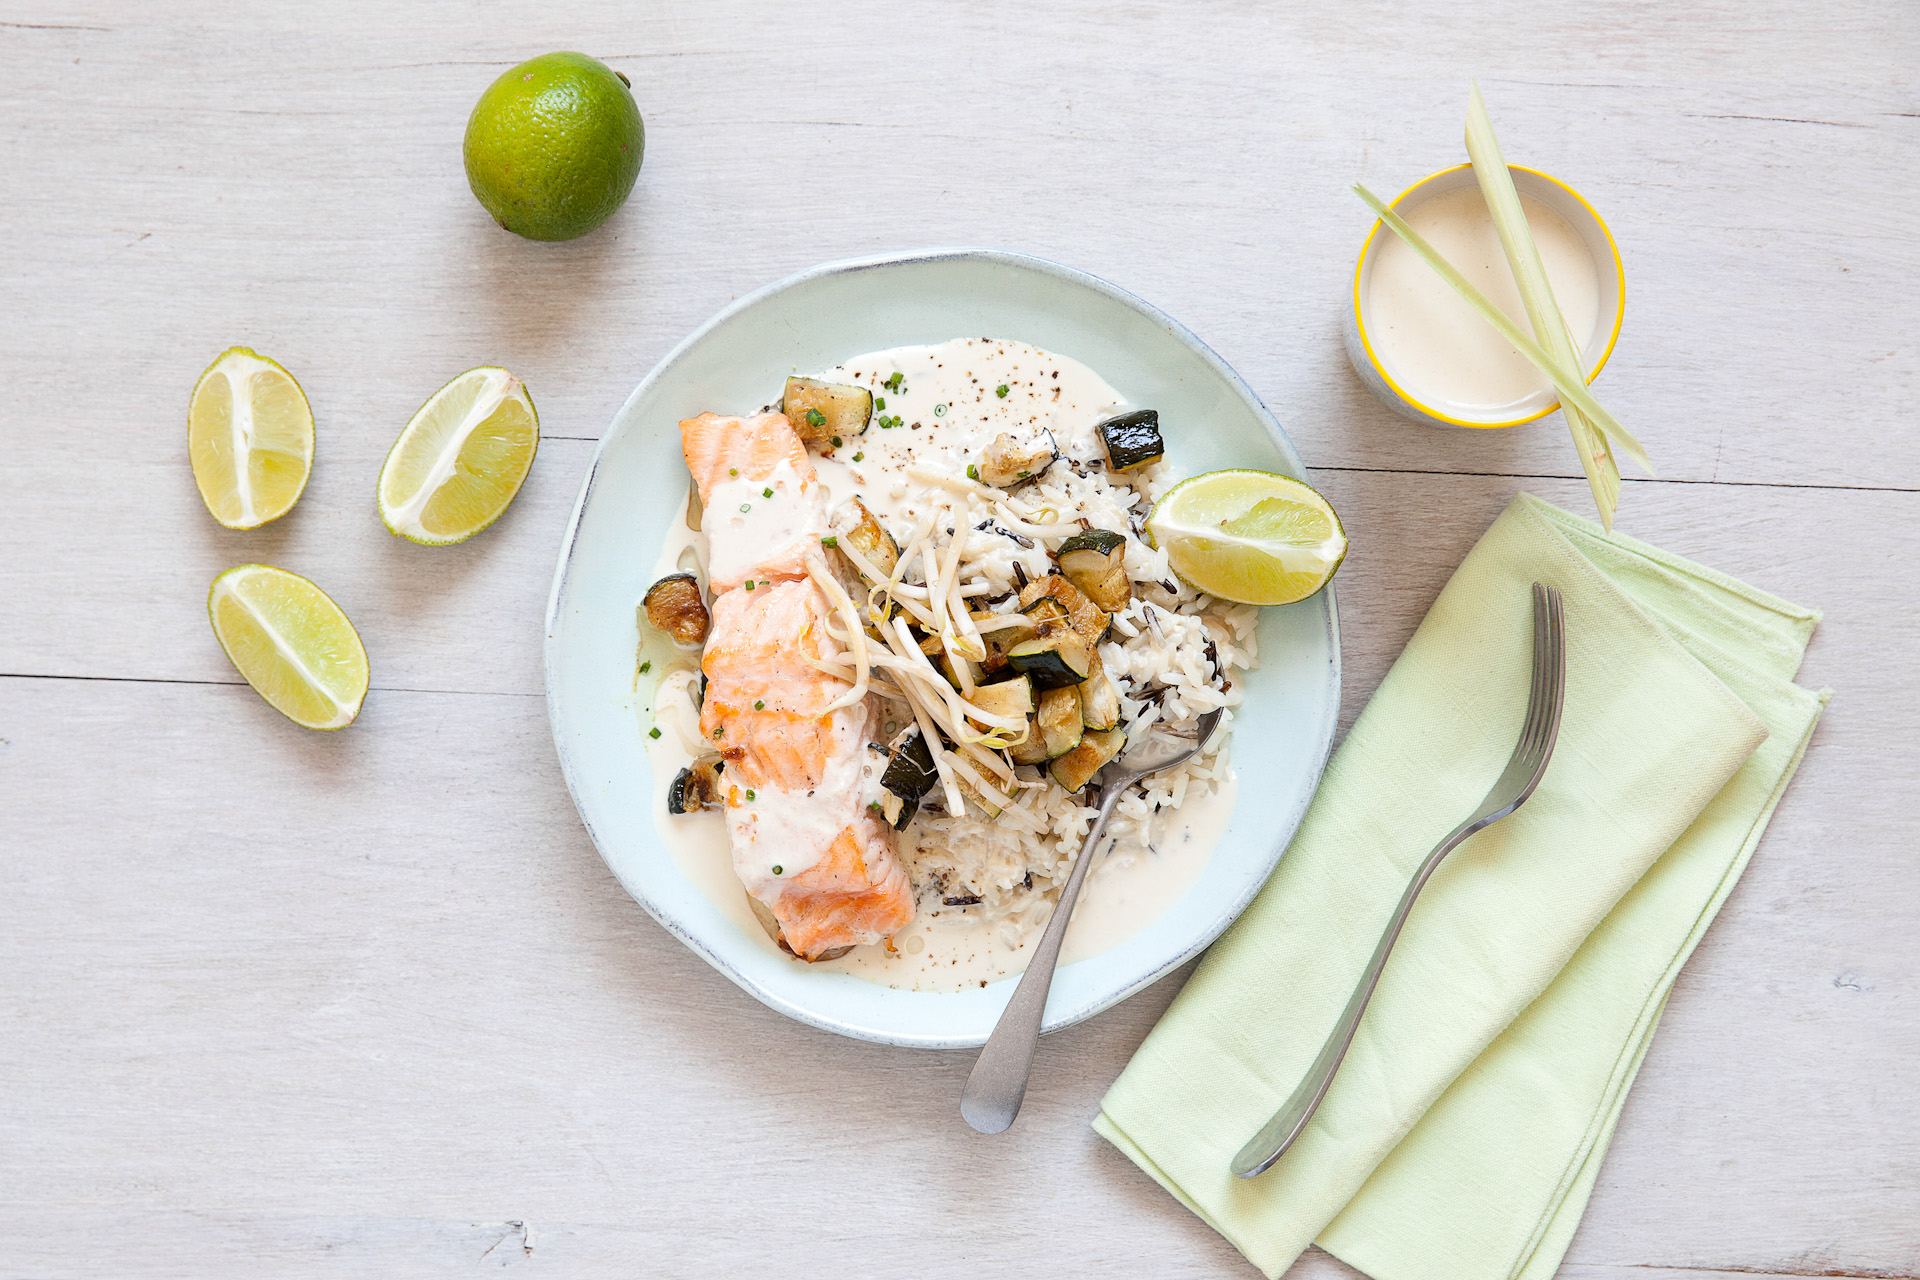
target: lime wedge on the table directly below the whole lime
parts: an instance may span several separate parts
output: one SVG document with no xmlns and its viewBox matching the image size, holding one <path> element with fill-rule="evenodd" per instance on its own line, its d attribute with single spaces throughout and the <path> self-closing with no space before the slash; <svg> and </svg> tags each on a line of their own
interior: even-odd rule
<svg viewBox="0 0 1920 1280">
<path fill-rule="evenodd" d="M 380 468 L 380 518 L 444 547 L 499 520 L 540 447 L 540 415 L 505 368 L 468 368 L 407 422 Z"/>
</svg>

